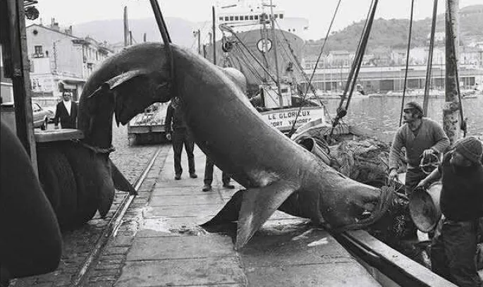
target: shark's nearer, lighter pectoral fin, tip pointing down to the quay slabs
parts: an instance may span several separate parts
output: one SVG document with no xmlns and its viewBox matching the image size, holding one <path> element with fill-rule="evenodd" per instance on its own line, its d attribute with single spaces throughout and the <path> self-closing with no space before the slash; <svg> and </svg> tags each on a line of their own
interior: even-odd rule
<svg viewBox="0 0 483 287">
<path fill-rule="evenodd" d="M 238 214 L 235 249 L 243 248 L 271 214 L 296 190 L 293 183 L 284 180 L 275 181 L 264 188 L 246 190 Z"/>
</svg>

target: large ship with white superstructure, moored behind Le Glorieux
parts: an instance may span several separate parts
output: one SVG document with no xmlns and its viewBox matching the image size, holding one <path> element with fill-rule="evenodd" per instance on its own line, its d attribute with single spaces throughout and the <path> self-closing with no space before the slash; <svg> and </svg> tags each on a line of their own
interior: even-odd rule
<svg viewBox="0 0 483 287">
<path fill-rule="evenodd" d="M 271 32 L 271 2 L 274 14 L 274 35 Z M 261 81 L 273 80 L 275 54 L 282 80 L 303 80 L 300 61 L 303 59 L 303 37 L 309 21 L 286 16 L 275 1 L 219 1 L 215 7 L 216 64 L 231 66 L 247 78 L 248 94 L 257 92 Z M 224 27 L 224 28 L 223 28 Z M 223 29 L 223 30 L 222 30 Z M 230 29 L 231 32 L 228 32 Z M 236 37 L 233 35 L 236 33 Z M 275 37 L 273 37 L 275 36 Z M 274 45 L 277 47 L 275 53 Z M 213 61 L 213 45 L 206 47 L 205 56 Z M 254 59 L 255 57 L 255 59 Z M 262 66 L 260 65 L 262 64 Z"/>
</svg>

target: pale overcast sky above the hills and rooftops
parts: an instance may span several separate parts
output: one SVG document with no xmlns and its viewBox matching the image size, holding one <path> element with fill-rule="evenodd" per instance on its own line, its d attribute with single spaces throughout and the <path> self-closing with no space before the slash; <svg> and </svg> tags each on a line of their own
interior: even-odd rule
<svg viewBox="0 0 483 287">
<path fill-rule="evenodd" d="M 123 6 L 128 6 L 129 18 L 152 16 L 149 0 L 38 0 L 37 8 L 44 24 L 56 18 L 62 27 L 123 17 Z M 266 0 L 269 3 L 269 0 Z M 338 0 L 273 0 L 287 17 L 309 20 L 307 39 L 325 36 Z M 210 21 L 215 0 L 159 0 L 164 17 L 178 17 L 192 22 Z M 228 1 L 233 2 L 233 1 Z M 370 0 L 342 0 L 333 30 L 341 30 L 355 21 L 365 19 Z M 226 3 L 226 1 L 225 1 Z M 483 0 L 460 0 L 459 6 L 483 4 Z M 380 0 L 377 18 L 409 18 L 411 0 Z M 446 1 L 439 0 L 439 13 L 444 13 Z M 432 15 L 432 0 L 415 0 L 415 20 Z M 38 23 L 36 20 L 35 23 Z M 31 22 L 30 22 L 31 23 Z M 28 25 L 29 23 L 27 23 Z"/>
</svg>

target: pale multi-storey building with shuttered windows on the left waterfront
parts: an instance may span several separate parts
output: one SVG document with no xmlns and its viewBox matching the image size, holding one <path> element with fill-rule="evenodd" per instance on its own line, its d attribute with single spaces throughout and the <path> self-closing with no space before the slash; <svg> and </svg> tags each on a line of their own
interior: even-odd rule
<svg viewBox="0 0 483 287">
<path fill-rule="evenodd" d="M 75 37 L 72 26 L 61 30 L 54 19 L 49 26 L 32 24 L 26 30 L 33 97 L 58 99 L 61 82 L 77 101 L 89 75 L 112 54 L 105 43 Z"/>
</svg>

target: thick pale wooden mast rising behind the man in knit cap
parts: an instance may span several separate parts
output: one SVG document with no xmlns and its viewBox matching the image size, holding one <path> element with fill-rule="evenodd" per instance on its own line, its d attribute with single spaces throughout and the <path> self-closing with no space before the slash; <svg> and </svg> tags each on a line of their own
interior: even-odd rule
<svg viewBox="0 0 483 287">
<path fill-rule="evenodd" d="M 443 128 L 451 143 L 460 138 L 458 98 L 458 10 L 459 0 L 446 0 L 446 79 Z"/>
</svg>

